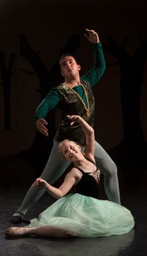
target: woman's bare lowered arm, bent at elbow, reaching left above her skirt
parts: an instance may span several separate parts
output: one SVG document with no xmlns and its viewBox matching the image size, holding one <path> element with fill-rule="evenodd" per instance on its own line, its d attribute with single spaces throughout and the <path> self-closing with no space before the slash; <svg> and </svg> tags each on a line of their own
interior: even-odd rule
<svg viewBox="0 0 147 256">
<path fill-rule="evenodd" d="M 44 187 L 50 195 L 56 198 L 61 198 L 66 195 L 69 190 L 73 187 L 73 185 L 80 180 L 80 173 L 77 171 L 77 169 L 72 168 L 69 173 L 67 173 L 67 176 L 64 179 L 63 184 L 61 184 L 61 187 L 56 188 L 48 184 L 47 181 L 45 181 L 42 178 L 37 178 L 36 181 L 34 181 L 33 187 Z"/>
</svg>

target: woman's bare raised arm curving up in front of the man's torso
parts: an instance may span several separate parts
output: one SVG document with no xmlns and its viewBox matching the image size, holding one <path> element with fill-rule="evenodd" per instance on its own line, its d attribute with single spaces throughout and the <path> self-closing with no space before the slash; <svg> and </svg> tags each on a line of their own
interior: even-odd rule
<svg viewBox="0 0 147 256">
<path fill-rule="evenodd" d="M 81 116 L 67 116 L 69 121 L 71 121 L 71 125 L 74 122 L 78 122 L 80 127 L 83 129 L 83 132 L 86 135 L 86 157 L 94 157 L 95 150 L 95 138 L 94 138 L 94 129 L 85 121 Z"/>
</svg>

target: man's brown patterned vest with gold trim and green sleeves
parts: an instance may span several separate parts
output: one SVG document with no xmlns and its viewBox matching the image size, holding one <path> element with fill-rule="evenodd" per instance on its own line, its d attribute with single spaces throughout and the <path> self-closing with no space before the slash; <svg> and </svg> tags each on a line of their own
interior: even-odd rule
<svg viewBox="0 0 147 256">
<path fill-rule="evenodd" d="M 85 135 L 78 124 L 70 125 L 67 116 L 79 115 L 88 124 L 94 125 L 94 95 L 92 87 L 97 84 L 105 72 L 105 59 L 101 43 L 94 44 L 94 67 L 80 78 L 80 86 L 72 89 L 61 83 L 59 86 L 50 89 L 48 95 L 39 104 L 35 120 L 45 118 L 54 108 L 58 108 L 61 114 L 61 122 L 56 132 L 55 140 L 74 140 L 85 145 Z"/>
</svg>

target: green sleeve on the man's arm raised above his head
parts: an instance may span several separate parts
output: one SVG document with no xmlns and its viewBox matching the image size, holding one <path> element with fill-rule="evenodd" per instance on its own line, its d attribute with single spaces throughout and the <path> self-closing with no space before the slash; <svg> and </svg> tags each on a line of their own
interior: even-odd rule
<svg viewBox="0 0 147 256">
<path fill-rule="evenodd" d="M 94 44 L 94 67 L 81 77 L 88 81 L 91 87 L 95 86 L 105 72 L 105 58 L 101 42 Z"/>
</svg>

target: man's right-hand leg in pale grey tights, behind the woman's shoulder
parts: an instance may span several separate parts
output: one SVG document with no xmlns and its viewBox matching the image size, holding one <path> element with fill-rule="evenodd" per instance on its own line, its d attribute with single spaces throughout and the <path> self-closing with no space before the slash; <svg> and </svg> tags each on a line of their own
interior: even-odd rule
<svg viewBox="0 0 147 256">
<path fill-rule="evenodd" d="M 116 164 L 97 141 L 95 143 L 94 157 L 99 170 L 105 176 L 104 186 L 108 200 L 121 204 Z"/>
</svg>

